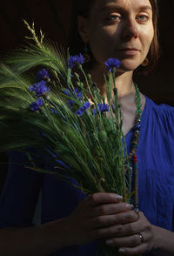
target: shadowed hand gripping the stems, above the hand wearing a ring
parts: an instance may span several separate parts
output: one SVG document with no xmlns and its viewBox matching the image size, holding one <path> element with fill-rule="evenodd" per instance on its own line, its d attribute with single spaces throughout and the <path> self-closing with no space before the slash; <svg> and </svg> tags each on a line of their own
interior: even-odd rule
<svg viewBox="0 0 174 256">
<path fill-rule="evenodd" d="M 68 218 L 71 245 L 113 237 L 122 228 L 120 224 L 137 221 L 138 215 L 131 208 L 132 205 L 124 203 L 117 194 L 99 192 L 90 195 L 89 201 L 81 201 Z"/>
</svg>

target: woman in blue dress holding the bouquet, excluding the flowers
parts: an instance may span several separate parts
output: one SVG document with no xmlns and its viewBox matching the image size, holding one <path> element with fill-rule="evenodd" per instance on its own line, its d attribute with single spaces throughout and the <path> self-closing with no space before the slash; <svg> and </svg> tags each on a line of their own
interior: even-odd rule
<svg viewBox="0 0 174 256">
<path fill-rule="evenodd" d="M 137 118 L 133 72 L 144 65 L 146 57 L 150 67 L 157 58 L 156 4 L 155 0 L 88 1 L 77 18 L 79 35 L 84 44 L 90 45 L 93 56 L 86 71 L 102 95 L 105 60 L 117 57 L 122 62 L 116 79 L 128 152 Z M 83 194 L 70 185 L 11 165 L 0 206 L 2 255 L 95 255 L 96 239 L 119 247 L 122 255 L 174 253 L 173 108 L 157 106 L 142 94 L 141 104 L 137 146 L 140 212 L 132 211 L 132 205 L 113 193 L 96 193 L 80 201 Z M 14 159 L 16 156 L 11 154 L 10 161 Z M 16 173 L 23 183 L 17 181 Z M 42 225 L 31 226 L 41 186 Z"/>
</svg>

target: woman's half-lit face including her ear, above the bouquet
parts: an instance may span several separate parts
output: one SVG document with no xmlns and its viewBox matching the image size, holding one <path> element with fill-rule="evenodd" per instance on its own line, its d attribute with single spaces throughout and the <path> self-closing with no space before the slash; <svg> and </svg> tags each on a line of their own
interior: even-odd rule
<svg viewBox="0 0 174 256">
<path fill-rule="evenodd" d="M 144 62 L 154 36 L 149 0 L 95 0 L 87 19 L 78 18 L 78 30 L 97 60 L 122 61 L 122 71 Z"/>
</svg>

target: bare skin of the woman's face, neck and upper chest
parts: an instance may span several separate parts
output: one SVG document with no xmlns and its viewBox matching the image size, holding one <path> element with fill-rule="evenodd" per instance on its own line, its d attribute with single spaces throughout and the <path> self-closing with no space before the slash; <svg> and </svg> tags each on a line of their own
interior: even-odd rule
<svg viewBox="0 0 174 256">
<path fill-rule="evenodd" d="M 133 71 L 144 62 L 154 36 L 152 10 L 149 0 L 95 1 L 88 18 L 78 17 L 78 31 L 90 49 L 96 64 L 88 70 L 105 97 L 104 62 L 117 57 L 122 64 L 116 73 L 118 97 L 123 108 L 123 131 L 126 135 L 134 125 L 135 88 Z M 125 48 L 136 48 L 137 54 L 128 55 Z M 141 94 L 142 110 L 145 98 Z"/>
</svg>

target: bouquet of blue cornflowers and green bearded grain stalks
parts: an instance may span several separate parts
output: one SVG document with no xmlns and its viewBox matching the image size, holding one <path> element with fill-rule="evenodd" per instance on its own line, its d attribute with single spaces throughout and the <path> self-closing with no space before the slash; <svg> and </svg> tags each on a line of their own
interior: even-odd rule
<svg viewBox="0 0 174 256">
<path fill-rule="evenodd" d="M 115 84 L 119 61 L 105 63 L 109 76 L 103 98 L 85 74 L 81 54 L 65 57 L 57 45 L 43 43 L 42 32 L 37 37 L 34 24 L 26 25 L 35 44 L 10 56 L 10 65 L 1 64 L 0 151 L 23 151 L 30 169 L 76 180 L 85 193 L 116 192 L 129 201 L 131 175 Z M 37 76 L 29 77 L 37 67 Z M 53 169 L 41 169 L 33 161 L 37 157 L 47 158 Z M 104 247 L 104 253 L 116 255 L 117 250 Z"/>
</svg>

